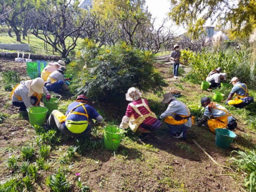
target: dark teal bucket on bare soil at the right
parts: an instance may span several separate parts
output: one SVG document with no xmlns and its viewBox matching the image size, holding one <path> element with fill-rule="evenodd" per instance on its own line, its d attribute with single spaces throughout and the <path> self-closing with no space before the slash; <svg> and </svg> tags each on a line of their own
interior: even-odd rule
<svg viewBox="0 0 256 192">
<path fill-rule="evenodd" d="M 220 148 L 229 148 L 233 140 L 237 138 L 236 134 L 233 131 L 230 131 L 226 128 L 217 128 L 215 129 L 215 131 L 215 145 Z"/>
</svg>

